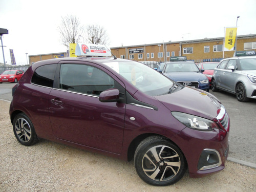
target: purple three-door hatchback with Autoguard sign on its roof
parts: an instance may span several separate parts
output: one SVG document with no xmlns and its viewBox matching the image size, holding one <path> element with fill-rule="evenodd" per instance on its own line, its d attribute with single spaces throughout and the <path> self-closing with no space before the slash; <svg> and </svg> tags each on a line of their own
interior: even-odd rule
<svg viewBox="0 0 256 192">
<path fill-rule="evenodd" d="M 106 52 L 77 45 L 78 55 Z M 23 145 L 38 138 L 123 160 L 152 185 L 216 173 L 228 156 L 229 117 L 213 95 L 115 57 L 36 62 L 13 88 L 10 118 Z"/>
</svg>

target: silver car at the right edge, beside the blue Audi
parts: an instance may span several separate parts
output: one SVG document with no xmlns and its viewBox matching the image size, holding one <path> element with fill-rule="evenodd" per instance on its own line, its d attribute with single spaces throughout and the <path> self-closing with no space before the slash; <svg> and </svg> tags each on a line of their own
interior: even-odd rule
<svg viewBox="0 0 256 192">
<path fill-rule="evenodd" d="M 256 99 L 256 56 L 223 59 L 212 75 L 211 90 L 236 94 L 241 102 Z"/>
</svg>

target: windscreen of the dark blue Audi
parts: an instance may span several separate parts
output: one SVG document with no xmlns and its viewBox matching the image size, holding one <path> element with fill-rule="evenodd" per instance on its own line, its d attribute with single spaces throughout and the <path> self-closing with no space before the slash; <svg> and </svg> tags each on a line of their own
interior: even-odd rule
<svg viewBox="0 0 256 192">
<path fill-rule="evenodd" d="M 199 72 L 199 69 L 193 62 L 169 62 L 165 69 L 168 72 Z"/>
</svg>

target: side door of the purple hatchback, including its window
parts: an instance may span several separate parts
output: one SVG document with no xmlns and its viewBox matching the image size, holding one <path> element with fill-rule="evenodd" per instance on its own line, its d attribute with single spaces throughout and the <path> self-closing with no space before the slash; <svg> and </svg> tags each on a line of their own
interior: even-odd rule
<svg viewBox="0 0 256 192">
<path fill-rule="evenodd" d="M 57 89 L 49 96 L 49 113 L 55 137 L 112 153 L 121 153 L 125 103 L 100 102 L 100 92 L 121 82 L 91 65 L 59 64 Z"/>
</svg>

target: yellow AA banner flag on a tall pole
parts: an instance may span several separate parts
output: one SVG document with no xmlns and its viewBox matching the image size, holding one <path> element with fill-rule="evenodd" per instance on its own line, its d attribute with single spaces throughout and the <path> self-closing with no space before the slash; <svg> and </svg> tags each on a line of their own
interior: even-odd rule
<svg viewBox="0 0 256 192">
<path fill-rule="evenodd" d="M 236 27 L 226 28 L 224 51 L 233 51 L 234 50 L 236 36 L 237 36 L 237 28 Z"/>
</svg>

